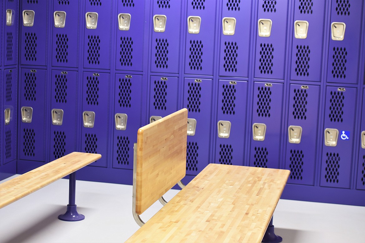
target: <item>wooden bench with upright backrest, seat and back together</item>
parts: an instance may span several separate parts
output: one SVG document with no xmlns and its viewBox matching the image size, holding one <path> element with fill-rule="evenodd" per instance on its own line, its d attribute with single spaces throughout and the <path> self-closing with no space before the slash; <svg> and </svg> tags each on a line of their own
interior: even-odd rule
<svg viewBox="0 0 365 243">
<path fill-rule="evenodd" d="M 141 215 L 185 176 L 187 109 L 138 130 L 127 242 L 261 242 L 290 171 L 209 164 L 145 224 Z M 163 201 L 163 200 L 162 200 Z"/>
</svg>

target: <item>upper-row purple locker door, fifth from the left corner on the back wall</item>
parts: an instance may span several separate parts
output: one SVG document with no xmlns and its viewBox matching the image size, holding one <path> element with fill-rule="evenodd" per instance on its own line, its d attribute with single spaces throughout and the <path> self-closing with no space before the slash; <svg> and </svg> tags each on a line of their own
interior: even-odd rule
<svg viewBox="0 0 365 243">
<path fill-rule="evenodd" d="M 181 4 L 182 1 L 153 1 L 151 18 L 166 15 L 166 28 L 164 32 L 152 31 L 151 72 L 178 73 Z"/>
</svg>

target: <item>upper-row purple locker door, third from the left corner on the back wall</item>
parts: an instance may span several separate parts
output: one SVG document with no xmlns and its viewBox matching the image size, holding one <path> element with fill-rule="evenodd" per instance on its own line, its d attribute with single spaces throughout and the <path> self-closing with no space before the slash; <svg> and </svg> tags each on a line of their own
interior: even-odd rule
<svg viewBox="0 0 365 243">
<path fill-rule="evenodd" d="M 85 12 L 97 13 L 97 26 L 88 29 L 84 21 L 84 68 L 110 68 L 110 37 L 111 37 L 111 7 L 110 0 L 86 0 Z M 94 163 L 95 164 L 95 163 Z"/>
</svg>

